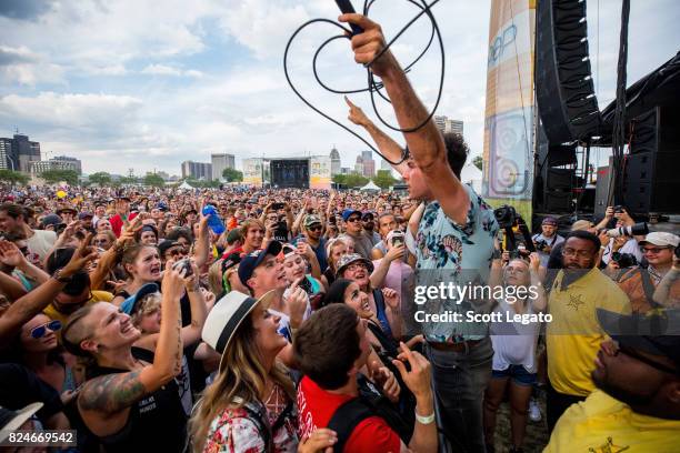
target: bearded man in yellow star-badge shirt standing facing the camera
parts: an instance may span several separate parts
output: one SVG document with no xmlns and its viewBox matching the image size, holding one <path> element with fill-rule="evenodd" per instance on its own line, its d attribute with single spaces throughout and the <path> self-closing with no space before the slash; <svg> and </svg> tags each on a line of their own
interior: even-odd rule
<svg viewBox="0 0 680 453">
<path fill-rule="evenodd" d="M 589 231 L 572 231 L 563 242 L 562 269 L 548 301 L 552 316 L 546 334 L 549 431 L 567 407 L 594 390 L 590 374 L 600 343 L 606 340 L 596 310 L 630 312 L 626 293 L 597 268 L 599 252 L 600 241 Z"/>
</svg>

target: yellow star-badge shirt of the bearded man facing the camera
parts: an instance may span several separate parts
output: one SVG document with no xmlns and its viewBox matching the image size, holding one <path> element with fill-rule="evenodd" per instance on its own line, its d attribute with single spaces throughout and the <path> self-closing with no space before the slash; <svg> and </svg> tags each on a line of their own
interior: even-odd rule
<svg viewBox="0 0 680 453">
<path fill-rule="evenodd" d="M 607 335 L 600 328 L 596 309 L 630 313 L 630 302 L 619 286 L 598 269 L 561 291 L 560 271 L 548 300 L 552 322 L 548 323 L 546 345 L 548 376 L 560 393 L 588 396 L 594 389 L 590 373 L 594 358 Z"/>
</svg>

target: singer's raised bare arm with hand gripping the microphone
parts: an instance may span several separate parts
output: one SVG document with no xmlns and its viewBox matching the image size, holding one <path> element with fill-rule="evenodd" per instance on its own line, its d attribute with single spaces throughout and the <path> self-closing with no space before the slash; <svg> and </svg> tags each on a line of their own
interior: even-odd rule
<svg viewBox="0 0 680 453">
<path fill-rule="evenodd" d="M 358 63 L 370 63 L 384 49 L 384 37 L 376 22 L 361 14 L 342 14 L 339 20 L 356 23 L 364 30 L 351 39 Z M 382 79 L 401 129 L 414 128 L 428 117 L 427 109 L 389 50 L 371 64 L 371 70 Z M 422 128 L 403 135 L 434 199 L 449 218 L 464 224 L 470 205 L 468 192 L 449 167 L 443 138 L 434 121 L 430 119 Z"/>
</svg>

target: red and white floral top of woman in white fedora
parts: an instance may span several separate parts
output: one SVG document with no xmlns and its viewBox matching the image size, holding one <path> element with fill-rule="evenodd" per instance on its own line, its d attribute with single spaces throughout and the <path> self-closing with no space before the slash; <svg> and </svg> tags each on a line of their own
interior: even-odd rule
<svg viewBox="0 0 680 453">
<path fill-rule="evenodd" d="M 276 390 L 280 399 L 286 394 Z M 253 413 L 261 407 L 260 403 L 246 403 L 242 407 L 227 407 L 210 423 L 203 453 L 261 453 L 267 452 L 266 437 L 260 431 L 261 423 L 254 420 Z M 297 413 L 288 411 L 277 423 L 283 407 L 267 405 L 269 426 L 278 425 L 271 435 L 272 452 L 294 453 L 298 451 Z"/>
</svg>

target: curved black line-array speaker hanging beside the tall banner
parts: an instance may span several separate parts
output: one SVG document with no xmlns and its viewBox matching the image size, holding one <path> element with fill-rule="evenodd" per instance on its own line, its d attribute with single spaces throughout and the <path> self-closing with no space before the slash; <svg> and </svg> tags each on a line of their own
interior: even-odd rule
<svg viewBox="0 0 680 453">
<path fill-rule="evenodd" d="M 596 134 L 602 123 L 594 95 L 586 1 L 539 0 L 536 26 L 536 92 L 550 144 Z"/>
</svg>

